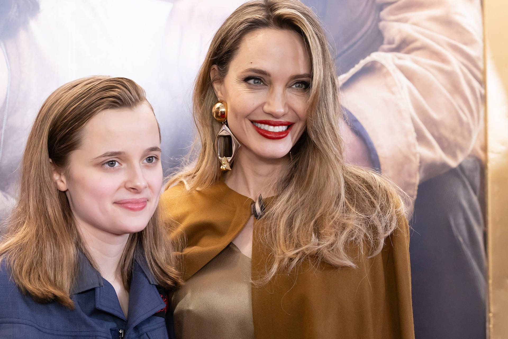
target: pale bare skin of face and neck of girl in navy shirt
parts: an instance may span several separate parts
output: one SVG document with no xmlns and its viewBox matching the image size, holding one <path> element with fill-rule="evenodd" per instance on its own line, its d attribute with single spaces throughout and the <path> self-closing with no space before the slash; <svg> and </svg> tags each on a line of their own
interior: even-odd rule
<svg viewBox="0 0 508 339">
<path fill-rule="evenodd" d="M 157 121 L 146 103 L 104 110 L 87 122 L 81 138 L 67 168 L 55 168 L 53 176 L 58 190 L 67 194 L 90 254 L 127 315 L 129 293 L 117 267 L 129 234 L 146 227 L 158 203 L 163 172 Z M 146 206 L 133 211 L 122 207 L 124 199 L 145 199 Z"/>
</svg>

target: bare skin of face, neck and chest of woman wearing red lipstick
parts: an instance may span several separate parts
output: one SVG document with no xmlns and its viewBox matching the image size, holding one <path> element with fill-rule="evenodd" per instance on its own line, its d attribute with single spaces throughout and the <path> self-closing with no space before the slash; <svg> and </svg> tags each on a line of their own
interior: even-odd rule
<svg viewBox="0 0 508 339">
<path fill-rule="evenodd" d="M 234 170 L 225 178 L 230 188 L 253 199 L 274 194 L 269 182 L 287 163 L 289 151 L 306 128 L 310 73 L 305 44 L 295 32 L 263 28 L 245 35 L 226 77 L 213 83 L 217 97 L 228 103 L 228 125 L 242 144 Z M 216 75 L 212 68 L 210 76 L 214 79 Z M 287 137 L 272 140 L 261 136 L 252 120 L 294 125 Z M 248 257 L 252 227 L 250 218 L 233 240 Z"/>
</svg>

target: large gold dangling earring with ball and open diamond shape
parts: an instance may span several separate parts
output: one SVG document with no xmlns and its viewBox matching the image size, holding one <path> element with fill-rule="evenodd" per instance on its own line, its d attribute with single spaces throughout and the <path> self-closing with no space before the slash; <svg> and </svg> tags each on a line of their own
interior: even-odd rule
<svg viewBox="0 0 508 339">
<path fill-rule="evenodd" d="M 215 120 L 223 124 L 215 137 L 215 150 L 220 162 L 220 170 L 231 171 L 231 164 L 241 145 L 226 125 L 228 121 L 228 105 L 226 102 L 217 99 L 217 103 L 213 105 L 212 114 Z"/>
</svg>

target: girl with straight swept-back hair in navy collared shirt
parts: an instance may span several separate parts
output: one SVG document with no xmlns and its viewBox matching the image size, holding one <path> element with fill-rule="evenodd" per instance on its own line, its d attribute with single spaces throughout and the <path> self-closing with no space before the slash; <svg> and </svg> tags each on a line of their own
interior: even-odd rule
<svg viewBox="0 0 508 339">
<path fill-rule="evenodd" d="M 179 275 L 157 212 L 160 141 L 130 79 L 78 79 L 44 102 L 0 244 L 0 337 L 168 337 Z"/>
</svg>

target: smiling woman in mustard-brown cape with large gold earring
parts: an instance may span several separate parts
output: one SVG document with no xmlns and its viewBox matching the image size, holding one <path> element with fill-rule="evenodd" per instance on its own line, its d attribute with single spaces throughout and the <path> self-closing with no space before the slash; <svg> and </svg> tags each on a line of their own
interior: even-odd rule
<svg viewBox="0 0 508 339">
<path fill-rule="evenodd" d="M 403 204 L 345 163 L 335 74 L 298 1 L 248 2 L 215 34 L 197 159 L 162 198 L 187 243 L 177 337 L 414 338 Z"/>
</svg>

